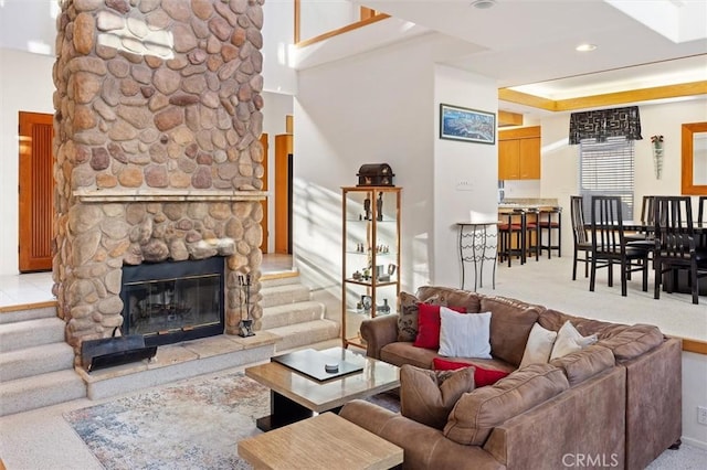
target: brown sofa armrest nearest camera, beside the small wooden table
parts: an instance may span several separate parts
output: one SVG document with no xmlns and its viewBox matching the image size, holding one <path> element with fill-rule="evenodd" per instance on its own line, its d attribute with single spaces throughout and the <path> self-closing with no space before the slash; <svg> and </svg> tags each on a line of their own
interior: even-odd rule
<svg viewBox="0 0 707 470">
<path fill-rule="evenodd" d="M 505 469 L 478 446 L 456 444 L 445 438 L 440 429 L 425 426 L 362 399 L 347 403 L 339 415 L 389 442 L 402 447 L 403 469 Z"/>
</svg>

